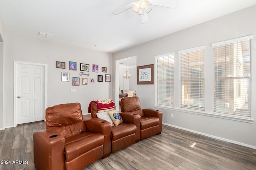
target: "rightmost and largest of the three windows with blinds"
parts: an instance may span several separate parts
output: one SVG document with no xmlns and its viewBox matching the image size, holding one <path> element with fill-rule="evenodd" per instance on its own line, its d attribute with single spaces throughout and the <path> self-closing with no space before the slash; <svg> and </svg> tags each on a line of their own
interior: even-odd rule
<svg viewBox="0 0 256 170">
<path fill-rule="evenodd" d="M 250 40 L 242 37 L 212 44 L 214 113 L 251 117 Z"/>
</svg>

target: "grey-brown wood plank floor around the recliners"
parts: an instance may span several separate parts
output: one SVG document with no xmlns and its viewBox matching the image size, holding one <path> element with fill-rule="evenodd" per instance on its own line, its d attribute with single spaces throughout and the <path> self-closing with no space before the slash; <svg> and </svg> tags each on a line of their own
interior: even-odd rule
<svg viewBox="0 0 256 170">
<path fill-rule="evenodd" d="M 34 170 L 33 133 L 41 129 L 45 129 L 44 121 L 0 131 L 0 170 Z M 20 162 L 13 163 L 16 160 Z M 256 170 L 256 150 L 163 125 L 161 135 L 143 139 L 84 168 L 121 169 Z"/>
</svg>

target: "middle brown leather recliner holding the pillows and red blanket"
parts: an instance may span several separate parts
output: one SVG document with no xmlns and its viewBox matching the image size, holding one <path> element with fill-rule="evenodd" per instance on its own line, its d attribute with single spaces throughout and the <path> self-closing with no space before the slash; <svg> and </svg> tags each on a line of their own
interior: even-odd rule
<svg viewBox="0 0 256 170">
<path fill-rule="evenodd" d="M 98 113 L 98 107 L 95 102 L 90 103 L 90 112 L 92 118 L 96 118 Z M 118 126 L 111 127 L 111 152 L 116 152 L 125 147 L 128 147 L 135 143 L 136 139 L 136 124 L 140 122 L 139 115 L 128 115 L 128 114 L 120 114 L 123 123 Z"/>
</svg>

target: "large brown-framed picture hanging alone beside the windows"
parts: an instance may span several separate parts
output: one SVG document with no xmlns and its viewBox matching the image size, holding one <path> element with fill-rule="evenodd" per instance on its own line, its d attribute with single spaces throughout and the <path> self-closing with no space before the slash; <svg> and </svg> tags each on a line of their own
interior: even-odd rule
<svg viewBox="0 0 256 170">
<path fill-rule="evenodd" d="M 154 64 L 137 66 L 137 84 L 154 84 Z"/>
</svg>

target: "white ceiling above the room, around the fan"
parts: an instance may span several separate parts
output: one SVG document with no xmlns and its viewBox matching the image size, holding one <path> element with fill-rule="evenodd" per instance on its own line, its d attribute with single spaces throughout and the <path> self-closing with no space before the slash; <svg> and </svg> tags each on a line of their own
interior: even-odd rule
<svg viewBox="0 0 256 170">
<path fill-rule="evenodd" d="M 0 0 L 0 16 L 6 30 L 34 37 L 41 31 L 53 35 L 49 41 L 114 53 L 256 5 L 256 0 L 178 0 L 175 9 L 152 6 L 148 23 L 132 9 L 112 14 L 131 2 L 136 0 Z"/>
</svg>

